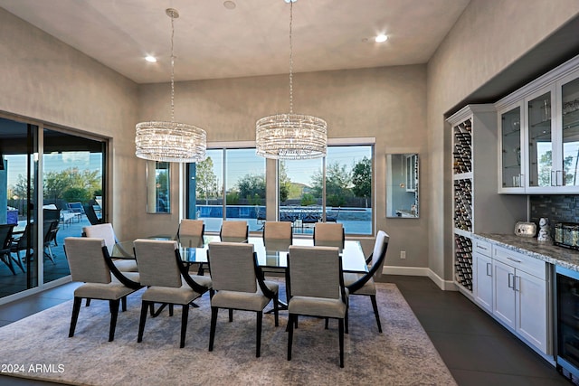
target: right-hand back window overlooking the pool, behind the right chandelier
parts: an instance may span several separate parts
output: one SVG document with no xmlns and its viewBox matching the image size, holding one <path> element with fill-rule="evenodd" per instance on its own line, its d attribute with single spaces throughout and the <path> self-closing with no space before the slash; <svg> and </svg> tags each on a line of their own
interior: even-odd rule
<svg viewBox="0 0 579 386">
<path fill-rule="evenodd" d="M 310 233 L 318 221 L 372 234 L 373 146 L 328 146 L 322 159 L 280 161 L 280 221 Z"/>
</svg>

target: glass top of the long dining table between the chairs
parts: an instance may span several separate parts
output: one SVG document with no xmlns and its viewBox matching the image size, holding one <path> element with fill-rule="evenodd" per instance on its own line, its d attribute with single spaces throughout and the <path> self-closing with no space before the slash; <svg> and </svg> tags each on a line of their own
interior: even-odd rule
<svg viewBox="0 0 579 386">
<path fill-rule="evenodd" d="M 151 239 L 151 238 L 148 238 Z M 157 240 L 171 240 L 169 238 L 154 237 Z M 253 250 L 256 252 L 258 264 L 262 268 L 286 268 L 288 266 L 289 242 L 285 240 L 263 240 L 261 237 L 249 237 L 247 240 L 236 238 L 220 238 L 219 235 L 205 235 L 199 237 L 180 237 L 177 241 L 181 259 L 186 263 L 206 263 L 207 249 L 210 242 L 248 242 L 253 244 Z M 294 246 L 313 246 L 312 239 L 293 239 L 291 245 Z M 319 245 L 319 244 L 318 244 Z M 337 247 L 340 257 L 342 258 L 342 269 L 347 272 L 367 272 L 368 268 L 365 263 L 364 251 L 360 241 L 346 240 L 344 248 L 341 242 L 333 243 L 326 241 L 324 246 Z M 115 244 L 111 255 L 115 259 L 135 259 L 133 252 L 133 240 L 122 241 Z"/>
</svg>

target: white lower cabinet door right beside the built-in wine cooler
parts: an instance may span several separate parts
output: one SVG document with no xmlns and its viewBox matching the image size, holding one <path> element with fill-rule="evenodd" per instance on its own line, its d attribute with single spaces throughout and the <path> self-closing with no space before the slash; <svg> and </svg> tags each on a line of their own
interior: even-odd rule
<svg viewBox="0 0 579 386">
<path fill-rule="evenodd" d="M 530 344 L 546 353 L 546 281 L 517 270 L 515 291 L 517 293 L 516 331 Z"/>
</svg>

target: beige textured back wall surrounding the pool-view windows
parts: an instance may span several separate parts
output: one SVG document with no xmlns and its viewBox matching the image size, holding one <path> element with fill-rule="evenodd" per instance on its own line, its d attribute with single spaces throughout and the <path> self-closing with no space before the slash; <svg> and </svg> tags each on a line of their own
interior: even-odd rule
<svg viewBox="0 0 579 386">
<path fill-rule="evenodd" d="M 428 265 L 429 192 L 421 193 L 420 219 L 386 219 L 384 177 L 386 153 L 419 153 L 422 165 L 429 162 L 425 75 L 424 65 L 294 75 L 295 112 L 326 119 L 330 138 L 376 138 L 376 228 L 390 233 L 389 265 Z M 140 119 L 169 117 L 165 84 L 141 85 L 139 90 Z M 258 118 L 288 111 L 287 75 L 176 84 L 176 120 L 204 127 L 210 142 L 254 141 Z M 423 173 L 420 178 L 422 184 L 430 176 Z M 370 250 L 372 240 L 364 242 Z M 400 249 L 406 250 L 407 259 L 398 258 Z"/>
</svg>

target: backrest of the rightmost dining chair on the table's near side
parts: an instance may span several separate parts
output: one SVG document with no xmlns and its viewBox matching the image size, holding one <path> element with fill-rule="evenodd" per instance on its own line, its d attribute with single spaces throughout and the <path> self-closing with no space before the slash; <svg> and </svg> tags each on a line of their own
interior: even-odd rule
<svg viewBox="0 0 579 386">
<path fill-rule="evenodd" d="M 342 260 L 336 247 L 289 247 L 290 297 L 341 297 Z"/>
</svg>

